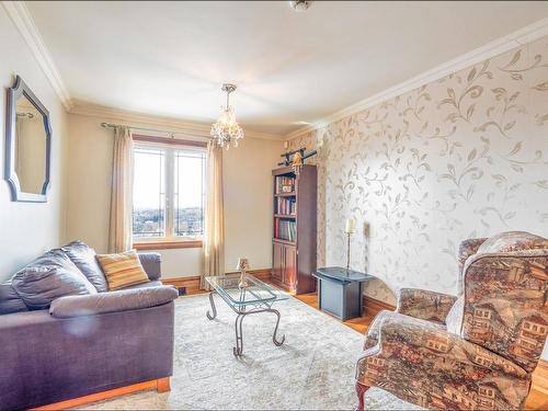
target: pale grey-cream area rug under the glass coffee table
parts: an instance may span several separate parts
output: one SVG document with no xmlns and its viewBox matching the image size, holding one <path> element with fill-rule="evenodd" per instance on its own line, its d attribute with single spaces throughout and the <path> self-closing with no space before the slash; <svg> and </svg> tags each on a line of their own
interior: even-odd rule
<svg viewBox="0 0 548 411">
<path fill-rule="evenodd" d="M 295 298 L 276 302 L 276 317 L 243 320 L 243 356 L 236 358 L 236 315 L 217 298 L 209 321 L 207 295 L 175 301 L 175 359 L 171 391 L 146 391 L 88 404 L 87 410 L 351 410 L 356 403 L 354 372 L 364 336 Z M 418 409 L 372 388 L 367 409 Z"/>
</svg>

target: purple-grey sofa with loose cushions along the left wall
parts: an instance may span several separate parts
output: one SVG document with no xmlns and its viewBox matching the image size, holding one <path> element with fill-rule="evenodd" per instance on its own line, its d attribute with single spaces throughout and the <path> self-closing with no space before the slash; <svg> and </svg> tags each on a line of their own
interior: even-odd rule
<svg viewBox="0 0 548 411">
<path fill-rule="evenodd" d="M 75 250 L 61 248 L 0 285 L 0 312 L 11 311 L 0 315 L 0 410 L 50 404 L 172 375 L 178 293 L 160 282 L 159 254 L 139 255 L 150 282 L 109 292 L 93 250 L 81 242 L 67 247 L 73 244 L 77 258 L 70 261 L 78 272 L 70 265 L 67 273 L 62 254 Z M 42 263 L 48 269 L 42 270 Z M 65 276 L 61 292 L 52 289 L 48 270 L 57 279 Z M 71 285 L 76 277 L 70 275 L 80 274 L 93 288 Z M 33 295 L 35 286 L 38 293 Z"/>
</svg>

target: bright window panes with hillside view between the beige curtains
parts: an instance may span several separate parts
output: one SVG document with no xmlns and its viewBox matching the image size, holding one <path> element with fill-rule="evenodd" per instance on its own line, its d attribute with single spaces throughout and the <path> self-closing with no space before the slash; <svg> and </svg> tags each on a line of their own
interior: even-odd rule
<svg viewBox="0 0 548 411">
<path fill-rule="evenodd" d="M 138 142 L 134 148 L 134 241 L 201 240 L 205 213 L 205 149 Z"/>
</svg>

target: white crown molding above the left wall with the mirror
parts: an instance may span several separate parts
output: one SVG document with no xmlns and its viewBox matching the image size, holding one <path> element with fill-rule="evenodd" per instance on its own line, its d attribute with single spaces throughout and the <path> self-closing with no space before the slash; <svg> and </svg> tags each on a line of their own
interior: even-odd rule
<svg viewBox="0 0 548 411">
<path fill-rule="evenodd" d="M 21 36 L 24 38 L 26 45 L 31 49 L 31 53 L 38 62 L 38 66 L 42 68 L 42 71 L 44 71 L 44 75 L 54 88 L 54 91 L 58 95 L 62 105 L 67 111 L 69 111 L 72 106 L 70 94 L 62 82 L 59 70 L 55 66 L 54 59 L 42 39 L 38 28 L 34 24 L 24 1 L 2 1 L 2 5 Z"/>
</svg>

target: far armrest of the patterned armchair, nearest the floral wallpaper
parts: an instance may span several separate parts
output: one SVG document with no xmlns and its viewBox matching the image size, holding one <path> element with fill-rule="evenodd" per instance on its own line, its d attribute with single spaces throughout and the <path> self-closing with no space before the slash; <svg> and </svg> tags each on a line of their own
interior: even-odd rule
<svg viewBox="0 0 548 411">
<path fill-rule="evenodd" d="M 445 318 L 456 300 L 457 297 L 447 294 L 419 288 L 401 288 L 396 312 L 421 320 L 445 323 Z"/>
</svg>

